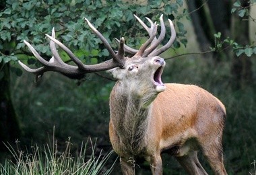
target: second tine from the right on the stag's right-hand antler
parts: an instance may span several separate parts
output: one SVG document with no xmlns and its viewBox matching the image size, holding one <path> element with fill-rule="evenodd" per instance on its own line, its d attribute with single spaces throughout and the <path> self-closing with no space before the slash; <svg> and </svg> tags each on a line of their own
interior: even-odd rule
<svg viewBox="0 0 256 175">
<path fill-rule="evenodd" d="M 159 44 L 162 42 L 162 40 L 164 39 L 166 30 L 165 30 L 165 26 L 164 26 L 163 15 L 160 16 L 160 25 L 161 25 L 161 32 L 160 32 L 159 37 L 156 40 L 152 41 L 152 45 L 145 50 L 143 57 L 147 57 L 150 54 L 150 52 L 155 50 L 159 46 Z"/>
</svg>

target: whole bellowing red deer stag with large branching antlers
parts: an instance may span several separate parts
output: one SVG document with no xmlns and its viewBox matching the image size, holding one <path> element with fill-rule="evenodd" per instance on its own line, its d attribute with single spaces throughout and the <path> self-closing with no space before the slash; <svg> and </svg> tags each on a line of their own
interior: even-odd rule
<svg viewBox="0 0 256 175">
<path fill-rule="evenodd" d="M 207 174 L 197 158 L 201 149 L 215 174 L 226 174 L 223 164 L 222 131 L 226 110 L 222 102 L 196 85 L 162 83 L 164 59 L 158 57 L 170 48 L 176 37 L 170 20 L 171 37 L 159 48 L 166 28 L 162 15 L 161 32 L 156 36 L 158 25 L 150 19 L 150 27 L 135 16 L 150 38 L 139 50 L 119 41 L 117 53 L 104 36 L 86 20 L 94 33 L 102 40 L 112 59 L 96 65 L 84 65 L 69 48 L 46 34 L 53 57 L 44 60 L 26 41 L 36 59 L 44 66 L 30 69 L 20 63 L 26 71 L 39 77 L 46 71 L 57 71 L 75 79 L 86 73 L 110 70 L 117 83 L 110 94 L 109 135 L 113 149 L 120 156 L 123 174 L 135 174 L 135 162 L 150 162 L 152 174 L 162 174 L 161 153 L 174 155 L 189 174 Z M 61 60 L 55 44 L 59 45 L 77 65 L 68 65 Z M 132 55 L 125 57 L 125 52 Z"/>
</svg>

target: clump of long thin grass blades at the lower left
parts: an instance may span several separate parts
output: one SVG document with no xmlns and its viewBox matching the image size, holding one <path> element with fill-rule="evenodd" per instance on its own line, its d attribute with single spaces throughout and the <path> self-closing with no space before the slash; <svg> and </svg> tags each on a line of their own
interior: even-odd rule
<svg viewBox="0 0 256 175">
<path fill-rule="evenodd" d="M 15 148 L 10 144 L 6 144 L 12 157 L 0 164 L 0 174 L 107 175 L 113 170 L 115 162 L 110 168 L 105 167 L 113 151 L 106 153 L 106 155 L 100 151 L 96 156 L 95 147 L 91 139 L 82 144 L 81 149 L 75 155 L 71 153 L 72 143 L 70 139 L 66 142 L 64 151 L 59 151 L 57 145 L 57 140 L 54 139 L 52 145 L 46 144 L 44 147 L 33 145 L 30 149 L 23 151 L 20 149 L 18 142 Z M 91 147 L 88 147 L 88 145 Z M 90 155 L 88 155 L 88 152 L 91 152 Z"/>
</svg>

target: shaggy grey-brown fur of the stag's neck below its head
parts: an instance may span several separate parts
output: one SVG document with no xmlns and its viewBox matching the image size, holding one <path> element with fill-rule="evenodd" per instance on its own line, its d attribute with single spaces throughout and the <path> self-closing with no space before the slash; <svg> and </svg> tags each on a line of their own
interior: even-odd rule
<svg viewBox="0 0 256 175">
<path fill-rule="evenodd" d="M 135 154 L 143 149 L 152 104 L 117 82 L 110 94 L 110 118 L 121 144 Z"/>
</svg>

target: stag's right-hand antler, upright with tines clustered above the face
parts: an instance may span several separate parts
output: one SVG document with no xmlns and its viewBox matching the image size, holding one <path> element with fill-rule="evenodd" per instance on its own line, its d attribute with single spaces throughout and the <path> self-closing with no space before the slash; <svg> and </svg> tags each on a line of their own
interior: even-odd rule
<svg viewBox="0 0 256 175">
<path fill-rule="evenodd" d="M 168 48 L 170 48 L 170 46 L 172 45 L 172 43 L 174 42 L 174 40 L 176 38 L 176 32 L 175 32 L 175 29 L 174 29 L 174 26 L 173 26 L 171 20 L 168 19 L 168 22 L 170 24 L 171 37 L 164 46 L 157 48 L 160 45 L 160 43 L 162 42 L 162 40 L 164 39 L 164 36 L 166 34 L 166 28 L 164 26 L 163 15 L 160 16 L 161 32 L 160 32 L 160 35 L 158 36 L 158 38 L 155 37 L 156 33 L 154 32 L 155 28 L 157 27 L 156 23 L 153 23 L 152 20 L 150 20 L 148 17 L 146 17 L 148 22 L 150 22 L 150 28 L 149 28 L 144 22 L 142 22 L 142 20 L 139 19 L 139 17 L 137 17 L 136 15 L 134 15 L 134 16 L 137 19 L 137 21 L 141 24 L 141 26 L 143 26 L 143 28 L 148 32 L 148 34 L 150 35 L 150 38 L 152 38 L 152 37 L 154 37 L 154 38 L 151 42 L 151 45 L 146 49 L 144 48 L 144 46 L 143 47 L 141 46 L 141 48 L 139 48 L 139 50 L 136 50 L 134 48 L 131 48 L 131 47 L 125 45 L 124 46 L 125 52 L 128 52 L 131 55 L 140 55 L 142 57 L 153 57 L 156 55 L 160 55 L 162 52 L 164 52 Z M 117 41 L 120 42 L 119 40 L 117 40 Z"/>
</svg>

